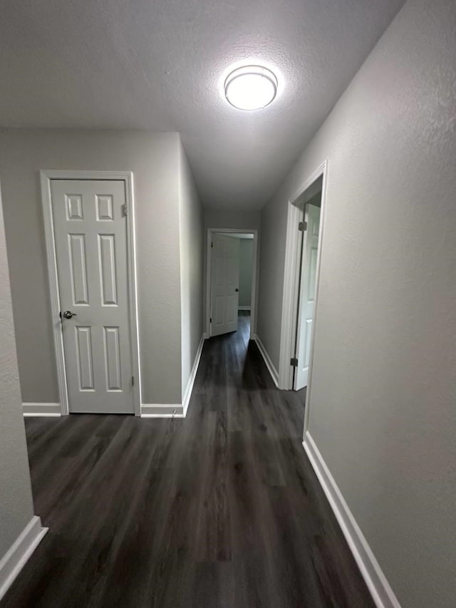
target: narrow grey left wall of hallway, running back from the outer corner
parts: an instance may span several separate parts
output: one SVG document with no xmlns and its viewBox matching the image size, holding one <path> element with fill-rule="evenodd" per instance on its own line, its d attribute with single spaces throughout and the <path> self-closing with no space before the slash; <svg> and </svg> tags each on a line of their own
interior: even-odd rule
<svg viewBox="0 0 456 608">
<path fill-rule="evenodd" d="M 185 151 L 180 145 L 180 295 L 182 397 L 203 334 L 203 213 Z"/>
</svg>

